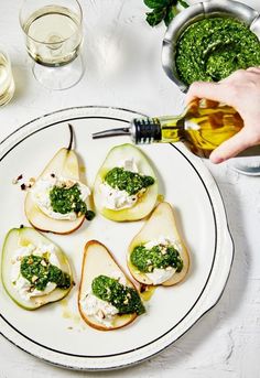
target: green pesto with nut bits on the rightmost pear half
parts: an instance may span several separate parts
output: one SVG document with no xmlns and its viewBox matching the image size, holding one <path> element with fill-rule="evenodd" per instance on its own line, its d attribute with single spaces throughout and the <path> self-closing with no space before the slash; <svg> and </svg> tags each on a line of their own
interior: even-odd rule
<svg viewBox="0 0 260 378">
<path fill-rule="evenodd" d="M 173 246 L 154 246 L 151 249 L 144 246 L 134 247 L 130 256 L 131 263 L 143 273 L 151 273 L 154 268 L 175 268 L 176 272 L 183 269 L 180 252 Z"/>
</svg>

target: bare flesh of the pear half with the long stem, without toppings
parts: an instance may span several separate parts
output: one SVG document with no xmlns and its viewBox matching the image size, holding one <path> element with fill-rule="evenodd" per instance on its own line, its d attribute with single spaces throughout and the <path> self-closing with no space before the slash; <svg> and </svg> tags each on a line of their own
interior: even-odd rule
<svg viewBox="0 0 260 378">
<path fill-rule="evenodd" d="M 58 150 L 37 180 L 51 174 L 79 181 L 79 164 L 76 153 L 66 148 Z M 28 220 L 34 228 L 54 234 L 71 234 L 79 228 L 85 219 L 85 215 L 82 215 L 75 220 L 59 220 L 48 217 L 34 203 L 30 191 L 25 197 L 24 210 Z"/>
</svg>

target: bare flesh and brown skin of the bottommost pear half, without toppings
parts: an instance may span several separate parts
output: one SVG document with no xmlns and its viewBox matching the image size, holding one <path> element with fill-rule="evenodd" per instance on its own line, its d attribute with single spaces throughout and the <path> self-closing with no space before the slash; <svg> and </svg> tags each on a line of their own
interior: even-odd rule
<svg viewBox="0 0 260 378">
<path fill-rule="evenodd" d="M 89 316 L 84 311 L 82 305 L 82 300 L 86 298 L 88 293 L 91 292 L 91 282 L 93 280 L 100 276 L 108 276 L 113 278 L 116 272 L 119 272 L 124 276 L 127 285 L 130 288 L 136 287 L 126 276 L 122 269 L 118 266 L 112 255 L 109 252 L 107 247 L 97 240 L 90 240 L 86 244 L 83 257 L 83 267 L 82 267 L 82 279 L 79 284 L 78 292 L 78 310 L 83 320 L 94 328 L 100 331 L 112 331 L 121 328 L 131 322 L 134 321 L 137 314 L 124 314 L 124 315 L 115 315 L 111 326 L 104 325 L 99 323 L 94 316 Z"/>
</svg>

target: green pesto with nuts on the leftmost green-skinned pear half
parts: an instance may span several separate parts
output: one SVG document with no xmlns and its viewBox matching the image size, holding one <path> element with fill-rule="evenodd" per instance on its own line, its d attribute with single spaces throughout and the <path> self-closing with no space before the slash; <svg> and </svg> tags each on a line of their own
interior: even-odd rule
<svg viewBox="0 0 260 378">
<path fill-rule="evenodd" d="M 44 257 L 44 255 L 24 256 L 21 260 L 20 268 L 22 277 L 32 284 L 32 290 L 43 291 L 48 282 L 56 283 L 59 289 L 68 289 L 72 284 L 71 276 L 50 263 L 47 257 Z"/>
</svg>

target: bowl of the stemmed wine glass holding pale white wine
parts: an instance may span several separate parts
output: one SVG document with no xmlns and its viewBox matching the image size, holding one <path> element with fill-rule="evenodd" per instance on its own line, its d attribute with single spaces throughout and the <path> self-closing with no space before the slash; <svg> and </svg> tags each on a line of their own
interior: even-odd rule
<svg viewBox="0 0 260 378">
<path fill-rule="evenodd" d="M 83 39 L 80 20 L 67 8 L 41 8 L 31 14 L 23 30 L 29 54 L 42 65 L 62 66 L 78 55 Z"/>
</svg>

